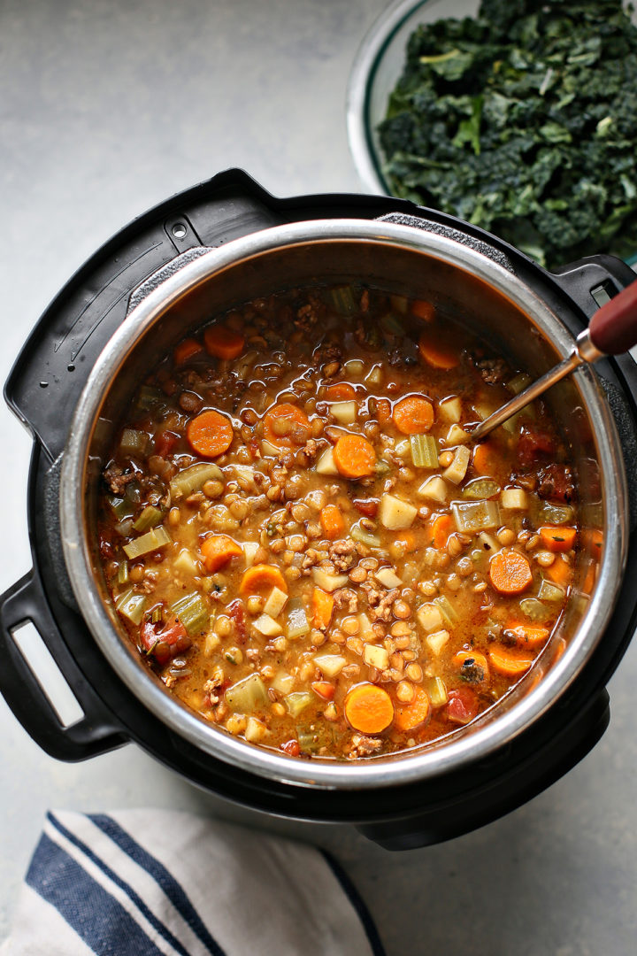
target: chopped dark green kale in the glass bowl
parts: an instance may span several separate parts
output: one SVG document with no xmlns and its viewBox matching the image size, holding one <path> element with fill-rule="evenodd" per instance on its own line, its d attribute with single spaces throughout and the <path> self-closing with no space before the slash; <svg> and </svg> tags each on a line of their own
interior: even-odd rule
<svg viewBox="0 0 637 956">
<path fill-rule="evenodd" d="M 379 127 L 395 195 L 554 268 L 637 250 L 637 27 L 621 0 L 482 0 L 412 34 Z"/>
</svg>

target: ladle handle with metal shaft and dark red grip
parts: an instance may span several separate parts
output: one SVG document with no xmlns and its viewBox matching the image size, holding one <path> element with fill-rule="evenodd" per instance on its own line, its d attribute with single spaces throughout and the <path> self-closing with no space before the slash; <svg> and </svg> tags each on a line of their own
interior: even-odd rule
<svg viewBox="0 0 637 956">
<path fill-rule="evenodd" d="M 634 345 L 637 345 L 637 280 L 597 310 L 588 328 L 576 338 L 573 351 L 566 359 L 480 422 L 472 430 L 471 437 L 475 442 L 481 442 L 494 428 L 537 399 L 551 385 L 570 375 L 578 365 L 595 362 L 606 355 L 621 355 Z"/>
</svg>

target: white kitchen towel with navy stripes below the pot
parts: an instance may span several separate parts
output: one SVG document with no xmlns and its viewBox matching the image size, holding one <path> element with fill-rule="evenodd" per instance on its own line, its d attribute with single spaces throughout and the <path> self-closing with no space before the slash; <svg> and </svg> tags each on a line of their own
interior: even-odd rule
<svg viewBox="0 0 637 956">
<path fill-rule="evenodd" d="M 0 956 L 383 956 L 327 853 L 191 814 L 54 812 Z"/>
</svg>

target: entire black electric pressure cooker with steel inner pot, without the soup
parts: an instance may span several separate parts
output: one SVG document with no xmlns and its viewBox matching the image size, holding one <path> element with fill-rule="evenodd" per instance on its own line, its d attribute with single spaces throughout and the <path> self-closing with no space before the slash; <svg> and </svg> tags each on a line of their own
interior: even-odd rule
<svg viewBox="0 0 637 956">
<path fill-rule="evenodd" d="M 475 310 L 475 326 L 489 315 L 488 336 L 532 372 L 566 354 L 598 306 L 635 278 L 604 255 L 545 272 L 478 228 L 390 197 L 275 199 L 238 170 L 146 213 L 57 295 L 6 386 L 33 437 L 33 568 L 0 597 L 0 690 L 59 759 L 135 741 L 228 800 L 350 822 L 385 847 L 406 849 L 519 806 L 582 759 L 607 727 L 605 684 L 637 615 L 637 488 L 624 464 L 637 460 L 637 371 L 629 356 L 605 359 L 597 375 L 583 369 L 553 398 L 580 458 L 583 513 L 601 515 L 607 534 L 596 587 L 569 602 L 563 627 L 573 637 L 559 660 L 551 648 L 541 655 L 541 681 L 534 668 L 497 714 L 442 747 L 404 756 L 308 761 L 255 748 L 181 706 L 120 638 L 91 549 L 100 449 L 142 374 L 141 356 L 151 365 L 210 310 L 263 293 L 268 282 L 274 290 L 286 279 L 300 284 L 339 271 L 394 281 L 396 291 L 437 288 L 438 300 L 461 304 L 469 324 Z M 564 415 L 566 405 L 576 413 Z M 14 640 L 27 621 L 81 706 L 70 726 Z"/>
</svg>

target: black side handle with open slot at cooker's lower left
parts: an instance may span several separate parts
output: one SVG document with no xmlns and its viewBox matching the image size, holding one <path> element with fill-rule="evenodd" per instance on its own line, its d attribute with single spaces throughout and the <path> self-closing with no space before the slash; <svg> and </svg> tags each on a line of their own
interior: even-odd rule
<svg viewBox="0 0 637 956">
<path fill-rule="evenodd" d="M 126 742 L 55 626 L 34 571 L 0 597 L 0 692 L 32 739 L 76 761 Z"/>
</svg>

